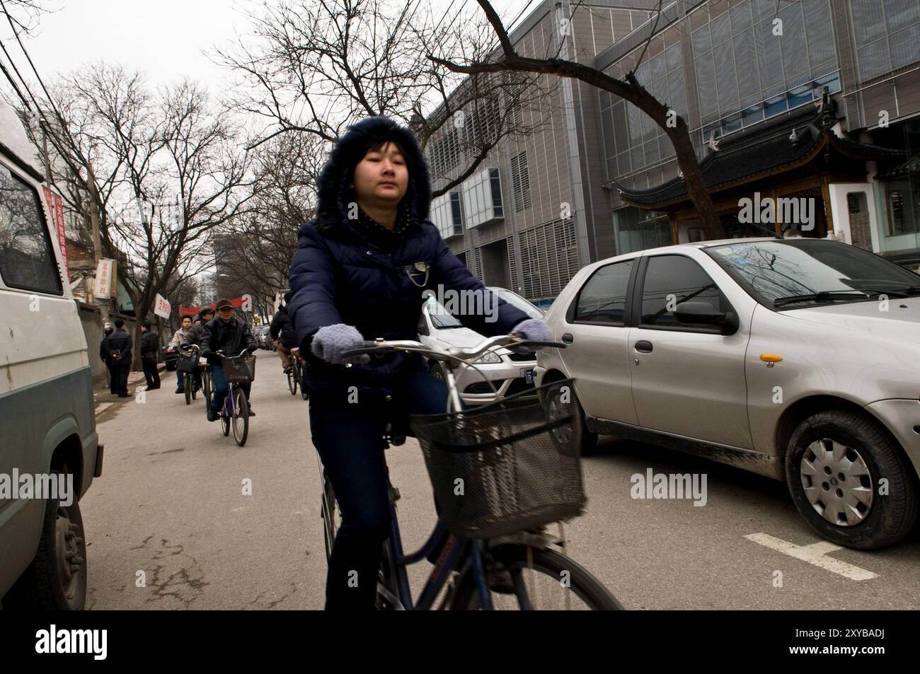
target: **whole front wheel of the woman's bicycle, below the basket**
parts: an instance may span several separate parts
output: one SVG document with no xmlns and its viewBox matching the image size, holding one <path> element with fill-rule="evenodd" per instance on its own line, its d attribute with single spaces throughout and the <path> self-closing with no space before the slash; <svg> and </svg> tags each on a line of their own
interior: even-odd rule
<svg viewBox="0 0 920 674">
<path fill-rule="evenodd" d="M 523 544 L 500 545 L 486 554 L 492 575 L 507 571 L 513 590 L 491 591 L 496 611 L 622 611 L 623 606 L 604 584 L 583 566 L 554 550 Z M 489 573 L 487 573 L 487 577 Z M 461 578 L 452 611 L 480 608 L 472 570 Z"/>
</svg>

